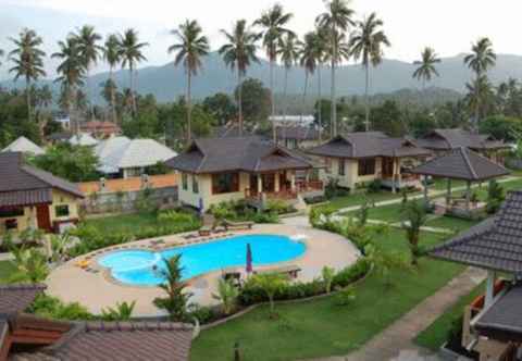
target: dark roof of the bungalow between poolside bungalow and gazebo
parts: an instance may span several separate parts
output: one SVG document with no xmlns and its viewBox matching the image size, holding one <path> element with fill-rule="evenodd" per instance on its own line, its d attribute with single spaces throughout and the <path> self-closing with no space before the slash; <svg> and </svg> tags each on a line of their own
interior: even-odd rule
<svg viewBox="0 0 522 361">
<path fill-rule="evenodd" d="M 307 152 L 314 155 L 353 159 L 430 155 L 427 149 L 415 147 L 409 139 L 390 138 L 382 132 L 348 133 Z"/>
</svg>

